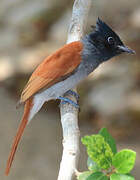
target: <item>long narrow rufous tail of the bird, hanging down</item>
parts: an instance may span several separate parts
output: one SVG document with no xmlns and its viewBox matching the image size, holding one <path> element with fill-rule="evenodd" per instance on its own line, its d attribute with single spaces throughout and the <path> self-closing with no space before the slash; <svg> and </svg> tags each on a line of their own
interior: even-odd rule
<svg viewBox="0 0 140 180">
<path fill-rule="evenodd" d="M 12 145 L 12 149 L 11 149 L 8 161 L 7 161 L 6 170 L 5 170 L 6 175 L 9 174 L 9 171 L 10 171 L 10 168 L 11 168 L 14 156 L 15 156 L 15 152 L 17 150 L 18 143 L 19 143 L 19 141 L 21 139 L 21 136 L 22 136 L 22 134 L 24 132 L 24 129 L 25 129 L 27 123 L 28 123 L 30 110 L 31 110 L 32 106 L 33 106 L 33 101 L 32 101 L 32 98 L 30 98 L 25 103 L 23 118 L 22 118 L 21 124 L 20 124 L 20 126 L 18 128 L 16 137 L 14 139 L 14 143 Z"/>
</svg>

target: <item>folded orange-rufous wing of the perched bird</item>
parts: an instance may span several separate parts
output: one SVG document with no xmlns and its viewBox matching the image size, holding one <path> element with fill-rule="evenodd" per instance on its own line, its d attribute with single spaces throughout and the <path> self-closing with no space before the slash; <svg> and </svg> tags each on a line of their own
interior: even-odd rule
<svg viewBox="0 0 140 180">
<path fill-rule="evenodd" d="M 82 49 L 82 43 L 76 41 L 48 56 L 31 75 L 20 102 L 25 102 L 41 89 L 47 89 L 71 74 L 81 62 Z"/>
</svg>

